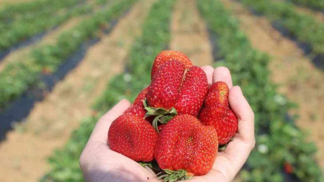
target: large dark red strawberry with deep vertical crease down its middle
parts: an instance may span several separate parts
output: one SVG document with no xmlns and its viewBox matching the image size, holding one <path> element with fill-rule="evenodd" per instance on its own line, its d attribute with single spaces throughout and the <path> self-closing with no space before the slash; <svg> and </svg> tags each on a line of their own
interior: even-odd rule
<svg viewBox="0 0 324 182">
<path fill-rule="evenodd" d="M 186 70 L 180 61 L 168 61 L 160 66 L 148 87 L 148 106 L 197 116 L 208 91 L 204 71 L 192 66 Z"/>
</svg>

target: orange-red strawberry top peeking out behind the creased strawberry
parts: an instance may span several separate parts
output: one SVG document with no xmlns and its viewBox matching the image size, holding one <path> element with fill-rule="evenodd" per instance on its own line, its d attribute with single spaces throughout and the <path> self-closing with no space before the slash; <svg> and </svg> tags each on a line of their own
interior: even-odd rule
<svg viewBox="0 0 324 182">
<path fill-rule="evenodd" d="M 192 66 L 190 59 L 182 52 L 173 51 L 173 50 L 164 50 L 160 52 L 154 59 L 152 72 L 151 72 L 151 79 L 153 79 L 153 76 L 155 75 L 155 73 L 157 72 L 157 70 L 161 65 L 172 60 L 183 62 L 184 65 L 186 66 L 186 69 L 189 69 Z"/>
</svg>

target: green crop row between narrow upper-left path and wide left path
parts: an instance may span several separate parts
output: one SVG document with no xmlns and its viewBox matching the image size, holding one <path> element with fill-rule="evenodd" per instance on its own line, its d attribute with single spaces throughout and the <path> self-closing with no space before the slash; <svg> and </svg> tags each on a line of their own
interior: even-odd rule
<svg viewBox="0 0 324 182">
<path fill-rule="evenodd" d="M 33 49 L 29 60 L 9 63 L 5 70 L 0 72 L 0 107 L 36 84 L 43 70 L 54 72 L 83 42 L 97 37 L 98 31 L 108 27 L 109 22 L 123 12 L 129 1 L 118 1 L 99 10 L 69 31 L 63 32 L 54 44 Z"/>
</svg>

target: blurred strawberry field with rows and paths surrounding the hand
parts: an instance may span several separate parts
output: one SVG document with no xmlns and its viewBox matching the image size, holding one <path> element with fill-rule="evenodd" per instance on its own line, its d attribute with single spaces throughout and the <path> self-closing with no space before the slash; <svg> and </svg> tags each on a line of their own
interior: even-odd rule
<svg viewBox="0 0 324 182">
<path fill-rule="evenodd" d="M 84 181 L 79 157 L 98 119 L 121 99 L 133 102 L 156 55 L 176 49 L 194 65 L 227 67 L 252 107 L 256 145 L 235 181 L 324 182 L 324 24 L 298 6 L 318 13 L 324 4 L 0 6 L 0 181 Z"/>
</svg>

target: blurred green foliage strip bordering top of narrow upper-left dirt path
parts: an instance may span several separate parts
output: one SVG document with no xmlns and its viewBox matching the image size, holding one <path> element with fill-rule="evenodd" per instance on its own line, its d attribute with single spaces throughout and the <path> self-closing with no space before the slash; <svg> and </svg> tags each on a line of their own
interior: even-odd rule
<svg viewBox="0 0 324 182">
<path fill-rule="evenodd" d="M 12 22 L 0 23 L 0 52 L 26 40 L 36 34 L 42 33 L 52 27 L 58 26 L 71 17 L 92 12 L 94 5 L 76 5 L 84 0 L 53 1 L 52 8 L 29 12 Z M 97 3 L 97 5 L 100 5 Z M 41 17 L 41 18 L 40 18 Z"/>
</svg>

